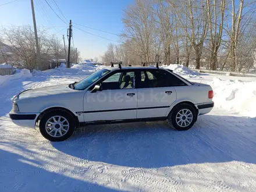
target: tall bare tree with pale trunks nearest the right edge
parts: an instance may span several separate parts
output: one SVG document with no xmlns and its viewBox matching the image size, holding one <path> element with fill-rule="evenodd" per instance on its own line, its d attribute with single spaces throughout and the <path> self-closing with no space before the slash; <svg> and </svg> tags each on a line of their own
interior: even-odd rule
<svg viewBox="0 0 256 192">
<path fill-rule="evenodd" d="M 250 52 L 251 47 L 242 47 L 241 45 L 244 45 L 244 41 L 248 38 L 248 35 L 253 35 L 251 28 L 255 27 L 255 13 L 256 2 L 250 0 L 239 0 L 238 2 L 231 0 L 226 8 L 223 33 L 225 39 L 227 37 L 229 38 L 229 42 L 226 42 L 227 49 L 230 52 L 229 59 L 227 59 L 227 64 L 229 64 L 227 67 L 229 67 L 229 70 L 232 72 L 241 71 L 243 69 L 241 65 L 246 65 L 246 63 L 243 62 L 245 58 L 242 52 Z M 247 49 L 247 51 L 244 49 Z M 252 56 L 253 55 L 251 55 L 250 58 Z M 250 60 L 250 58 L 247 59 Z"/>
</svg>

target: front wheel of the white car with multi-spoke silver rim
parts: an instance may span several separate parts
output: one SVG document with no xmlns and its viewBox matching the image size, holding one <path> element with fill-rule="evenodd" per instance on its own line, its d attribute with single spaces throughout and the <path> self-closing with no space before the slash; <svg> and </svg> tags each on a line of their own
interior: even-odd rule
<svg viewBox="0 0 256 192">
<path fill-rule="evenodd" d="M 49 141 L 64 141 L 72 136 L 76 123 L 73 115 L 57 109 L 44 113 L 39 124 L 40 132 Z"/>
</svg>

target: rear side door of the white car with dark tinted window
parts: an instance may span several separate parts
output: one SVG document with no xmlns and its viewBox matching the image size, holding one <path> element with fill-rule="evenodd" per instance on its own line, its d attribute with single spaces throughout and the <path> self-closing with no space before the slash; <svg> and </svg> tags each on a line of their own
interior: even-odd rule
<svg viewBox="0 0 256 192">
<path fill-rule="evenodd" d="M 162 70 L 141 70 L 137 83 L 137 118 L 166 116 L 170 105 L 176 100 L 175 88 L 166 81 Z"/>
</svg>

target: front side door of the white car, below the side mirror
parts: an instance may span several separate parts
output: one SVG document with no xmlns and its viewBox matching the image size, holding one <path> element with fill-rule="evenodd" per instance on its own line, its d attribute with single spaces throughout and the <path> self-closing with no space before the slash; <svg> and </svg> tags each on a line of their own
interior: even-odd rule
<svg viewBox="0 0 256 192">
<path fill-rule="evenodd" d="M 84 95 L 84 121 L 136 119 L 137 89 L 134 71 L 117 70 L 97 84 L 102 91 Z"/>
</svg>

